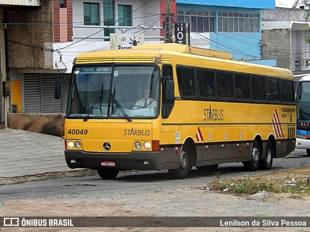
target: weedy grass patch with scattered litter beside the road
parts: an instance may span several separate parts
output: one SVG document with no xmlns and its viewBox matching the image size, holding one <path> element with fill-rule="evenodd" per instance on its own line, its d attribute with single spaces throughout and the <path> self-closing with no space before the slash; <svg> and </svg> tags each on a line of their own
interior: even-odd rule
<svg viewBox="0 0 310 232">
<path fill-rule="evenodd" d="M 258 191 L 310 194 L 310 185 L 306 185 L 305 179 L 295 180 L 295 182 L 292 183 L 292 181 L 289 181 L 288 177 L 277 180 L 260 177 L 238 179 L 217 178 L 215 181 L 209 183 L 207 187 L 214 191 L 227 192 L 235 195 L 252 195 Z"/>
</svg>

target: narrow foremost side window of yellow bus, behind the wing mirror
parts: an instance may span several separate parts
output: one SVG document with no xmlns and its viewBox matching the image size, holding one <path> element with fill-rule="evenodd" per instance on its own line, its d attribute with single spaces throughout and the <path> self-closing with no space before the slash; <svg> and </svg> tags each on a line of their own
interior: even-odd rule
<svg viewBox="0 0 310 232">
<path fill-rule="evenodd" d="M 162 76 L 166 77 L 169 76 L 171 80 L 173 80 L 173 71 L 172 71 L 172 66 L 171 65 L 163 65 L 162 67 Z M 166 99 L 166 83 L 165 81 L 162 84 L 162 90 L 161 90 L 161 94 L 162 94 L 162 107 L 161 107 L 161 115 L 163 118 L 168 118 L 173 105 L 174 105 L 174 100 L 169 100 Z"/>
</svg>

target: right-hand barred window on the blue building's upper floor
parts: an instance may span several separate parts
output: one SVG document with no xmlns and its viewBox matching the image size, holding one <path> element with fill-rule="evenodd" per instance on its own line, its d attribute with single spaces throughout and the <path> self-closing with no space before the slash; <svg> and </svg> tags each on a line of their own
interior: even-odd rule
<svg viewBox="0 0 310 232">
<path fill-rule="evenodd" d="M 218 12 L 218 32 L 259 32 L 259 14 Z"/>
</svg>

